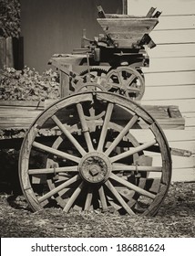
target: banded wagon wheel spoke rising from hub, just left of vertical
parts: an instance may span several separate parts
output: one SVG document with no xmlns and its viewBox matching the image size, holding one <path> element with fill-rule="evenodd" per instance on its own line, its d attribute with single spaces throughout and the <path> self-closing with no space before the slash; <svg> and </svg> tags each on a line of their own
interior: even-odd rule
<svg viewBox="0 0 195 256">
<path fill-rule="evenodd" d="M 84 133 L 84 136 L 85 136 L 85 139 L 86 139 L 88 151 L 89 152 L 94 151 L 94 147 L 93 147 L 93 144 L 91 142 L 90 134 L 89 134 L 88 127 L 87 127 L 85 114 L 83 112 L 83 107 L 80 103 L 77 103 L 77 112 L 78 112 L 78 116 L 79 116 L 80 123 L 81 123 L 81 126 L 82 126 L 82 132 Z"/>
</svg>

